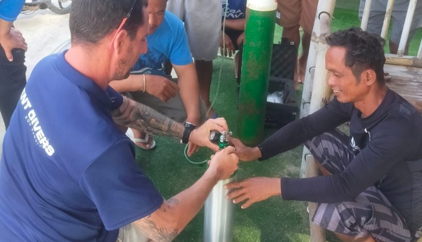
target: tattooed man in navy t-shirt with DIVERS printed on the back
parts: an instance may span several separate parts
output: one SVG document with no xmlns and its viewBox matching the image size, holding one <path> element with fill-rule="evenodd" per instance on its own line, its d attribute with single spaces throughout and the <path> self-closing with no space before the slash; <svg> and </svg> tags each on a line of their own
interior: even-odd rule
<svg viewBox="0 0 422 242">
<path fill-rule="evenodd" d="M 170 241 L 237 169 L 234 148 L 218 151 L 193 186 L 163 200 L 114 121 L 213 150 L 210 130 L 227 123 L 184 128 L 108 86 L 146 52 L 145 0 L 74 0 L 69 26 L 70 49 L 34 68 L 4 138 L 0 240 Z"/>
</svg>

